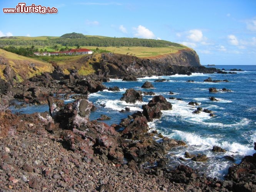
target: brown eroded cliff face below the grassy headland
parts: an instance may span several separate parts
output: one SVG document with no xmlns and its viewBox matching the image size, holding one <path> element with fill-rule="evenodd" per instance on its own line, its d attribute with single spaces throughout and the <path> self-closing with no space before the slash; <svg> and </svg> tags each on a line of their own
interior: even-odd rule
<svg viewBox="0 0 256 192">
<path fill-rule="evenodd" d="M 91 64 L 97 74 L 108 77 L 212 73 L 200 65 L 198 55 L 189 48 L 150 58 L 104 53 Z"/>
</svg>

